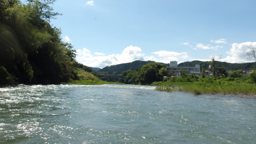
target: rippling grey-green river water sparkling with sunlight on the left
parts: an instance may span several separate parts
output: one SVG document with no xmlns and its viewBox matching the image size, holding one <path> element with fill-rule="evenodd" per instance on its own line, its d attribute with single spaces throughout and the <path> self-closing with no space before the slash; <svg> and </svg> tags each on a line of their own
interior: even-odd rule
<svg viewBox="0 0 256 144">
<path fill-rule="evenodd" d="M 256 99 L 140 85 L 0 87 L 0 143 L 256 143 Z"/>
</svg>

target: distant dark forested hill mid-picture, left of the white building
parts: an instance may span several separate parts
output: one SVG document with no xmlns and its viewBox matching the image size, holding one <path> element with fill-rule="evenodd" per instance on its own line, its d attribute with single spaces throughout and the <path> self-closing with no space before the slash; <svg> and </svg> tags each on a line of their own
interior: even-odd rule
<svg viewBox="0 0 256 144">
<path fill-rule="evenodd" d="M 137 70 L 147 63 L 154 63 L 154 62 L 155 61 L 150 61 L 150 60 L 148 61 L 135 60 L 128 63 L 121 63 L 117 65 L 106 66 L 98 70 L 97 72 L 102 72 L 102 73 L 106 72 L 108 74 L 121 74 L 122 71 L 126 71 L 129 69 Z"/>
</svg>

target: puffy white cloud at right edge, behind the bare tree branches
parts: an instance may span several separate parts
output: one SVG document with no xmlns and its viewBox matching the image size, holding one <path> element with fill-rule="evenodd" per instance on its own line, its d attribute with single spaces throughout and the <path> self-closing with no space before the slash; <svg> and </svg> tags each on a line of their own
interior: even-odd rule
<svg viewBox="0 0 256 144">
<path fill-rule="evenodd" d="M 254 62 L 255 59 L 246 59 L 246 52 L 252 46 L 256 47 L 256 42 L 233 43 L 229 51 L 226 52 L 229 55 L 222 59 L 230 63 Z"/>
</svg>

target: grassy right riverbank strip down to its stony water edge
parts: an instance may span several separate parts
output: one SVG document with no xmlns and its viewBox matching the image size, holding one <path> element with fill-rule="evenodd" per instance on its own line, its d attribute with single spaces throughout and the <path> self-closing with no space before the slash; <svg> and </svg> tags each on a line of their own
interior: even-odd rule
<svg viewBox="0 0 256 144">
<path fill-rule="evenodd" d="M 256 98 L 256 85 L 249 83 L 162 82 L 156 86 L 155 90 L 159 91 L 183 91 L 198 95 L 214 94 L 228 97 Z"/>
</svg>

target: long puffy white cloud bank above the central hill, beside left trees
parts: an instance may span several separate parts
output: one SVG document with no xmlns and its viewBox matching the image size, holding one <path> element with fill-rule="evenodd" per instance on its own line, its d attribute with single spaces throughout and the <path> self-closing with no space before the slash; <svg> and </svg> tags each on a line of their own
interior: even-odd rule
<svg viewBox="0 0 256 144">
<path fill-rule="evenodd" d="M 187 58 L 190 58 L 186 52 L 164 50 L 153 52 L 152 55 L 144 55 L 141 48 L 132 45 L 124 48 L 119 54 L 104 55 L 104 53 L 100 52 L 94 52 L 93 54 L 87 48 L 78 49 L 76 52 L 76 60 L 78 62 L 81 62 L 87 66 L 100 68 L 108 65 L 132 62 L 134 60 L 152 60 L 156 62 L 169 63 L 171 60 L 187 61 Z"/>
</svg>

